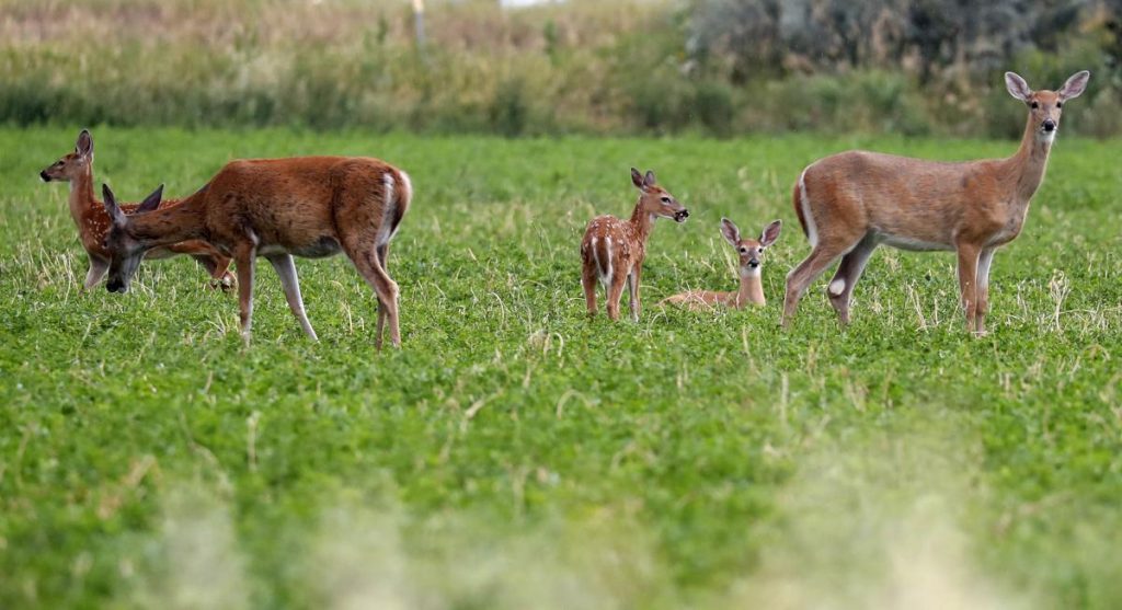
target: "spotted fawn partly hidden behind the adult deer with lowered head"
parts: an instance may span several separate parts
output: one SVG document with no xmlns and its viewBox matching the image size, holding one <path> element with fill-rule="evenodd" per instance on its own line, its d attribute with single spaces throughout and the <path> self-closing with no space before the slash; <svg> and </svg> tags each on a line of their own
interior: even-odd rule
<svg viewBox="0 0 1122 610">
<path fill-rule="evenodd" d="M 105 271 L 109 270 L 109 251 L 105 249 L 104 241 L 110 224 L 105 209 L 93 196 L 93 137 L 90 136 L 90 132 L 83 129 L 77 136 L 74 151 L 39 172 L 39 177 L 43 178 L 43 182 L 59 181 L 68 182 L 71 185 L 71 216 L 77 224 L 82 247 L 85 248 L 85 252 L 90 257 L 90 270 L 85 274 L 83 283 L 83 288 L 89 290 L 96 286 L 105 276 Z M 159 205 L 160 195 L 162 193 L 153 193 L 149 197 L 155 197 L 155 204 Z M 146 200 L 146 203 L 153 205 L 150 200 Z M 176 203 L 178 200 L 166 200 L 162 206 L 168 207 Z M 125 213 L 131 214 L 140 205 L 125 204 L 120 207 Z M 191 255 L 214 278 L 213 284 L 221 286 L 222 289 L 233 286 L 233 274 L 229 271 L 230 259 L 220 255 L 218 250 L 204 241 L 187 240 L 169 243 L 167 247 L 151 250 L 147 258 L 167 258 L 175 255 Z"/>
</svg>

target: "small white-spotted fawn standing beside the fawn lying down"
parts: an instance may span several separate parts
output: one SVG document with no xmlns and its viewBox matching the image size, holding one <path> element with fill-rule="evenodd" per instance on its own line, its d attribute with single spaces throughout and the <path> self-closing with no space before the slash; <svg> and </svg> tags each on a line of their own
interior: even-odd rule
<svg viewBox="0 0 1122 610">
<path fill-rule="evenodd" d="M 654 220 L 665 218 L 681 223 L 686 222 L 690 212 L 655 184 L 654 172 L 647 170 L 644 176 L 633 167 L 632 183 L 640 195 L 631 220 L 625 222 L 611 215 L 592 219 L 580 243 L 580 259 L 588 314 L 596 315 L 596 281 L 599 279 L 607 293 L 608 317 L 619 320 L 619 297 L 626 281 L 632 320 L 638 322 L 640 276 L 643 259 L 646 258 L 646 239 L 651 237 Z"/>
</svg>

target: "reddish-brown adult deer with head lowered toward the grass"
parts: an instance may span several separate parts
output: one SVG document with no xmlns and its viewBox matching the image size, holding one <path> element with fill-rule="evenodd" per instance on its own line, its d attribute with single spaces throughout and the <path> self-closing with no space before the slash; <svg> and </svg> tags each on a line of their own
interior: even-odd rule
<svg viewBox="0 0 1122 610">
<path fill-rule="evenodd" d="M 233 258 L 238 268 L 241 333 L 249 340 L 254 313 L 254 266 L 265 257 L 280 276 L 288 307 L 304 332 L 307 322 L 293 256 L 321 258 L 340 250 L 374 288 L 378 331 L 401 345 L 397 284 L 386 272 L 389 241 L 413 198 L 410 177 L 366 157 L 246 159 L 227 164 L 197 193 L 176 206 L 128 216 L 104 187 L 112 219 L 110 292 L 125 293 L 140 257 L 153 248 L 202 239 Z"/>
</svg>

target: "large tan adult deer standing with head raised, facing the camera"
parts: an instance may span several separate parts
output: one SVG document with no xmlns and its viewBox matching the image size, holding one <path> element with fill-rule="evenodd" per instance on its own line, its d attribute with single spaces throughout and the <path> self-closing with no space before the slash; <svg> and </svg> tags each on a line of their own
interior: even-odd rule
<svg viewBox="0 0 1122 610">
<path fill-rule="evenodd" d="M 1005 73 L 1009 93 L 1029 118 L 1017 154 L 1006 159 L 938 163 L 850 150 L 820 159 L 794 185 L 794 211 L 813 248 L 787 276 L 783 326 L 803 290 L 838 258 L 827 293 L 842 324 L 849 298 L 881 243 L 903 250 L 955 250 L 967 329 L 985 332 L 994 251 L 1021 232 L 1040 186 L 1061 107 L 1078 98 L 1091 73 L 1073 75 L 1059 91 L 1032 91 Z"/>
</svg>

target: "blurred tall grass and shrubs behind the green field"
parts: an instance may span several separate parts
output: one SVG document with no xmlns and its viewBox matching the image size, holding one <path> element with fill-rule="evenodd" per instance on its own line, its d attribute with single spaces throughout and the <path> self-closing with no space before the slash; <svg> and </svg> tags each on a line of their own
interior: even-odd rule
<svg viewBox="0 0 1122 610">
<path fill-rule="evenodd" d="M 1122 131 L 1122 0 L 0 0 L 0 122 L 1018 137 L 1014 70 L 1091 70 Z"/>
</svg>

